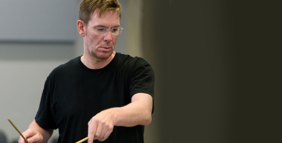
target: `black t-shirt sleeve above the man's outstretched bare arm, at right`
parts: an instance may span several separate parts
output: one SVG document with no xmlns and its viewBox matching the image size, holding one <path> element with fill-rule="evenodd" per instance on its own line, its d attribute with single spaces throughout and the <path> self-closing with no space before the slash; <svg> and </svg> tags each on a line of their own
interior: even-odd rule
<svg viewBox="0 0 282 143">
<path fill-rule="evenodd" d="M 130 98 L 136 93 L 147 93 L 153 98 L 152 114 L 154 112 L 155 75 L 151 65 L 139 58 L 133 68 L 130 78 Z"/>
</svg>

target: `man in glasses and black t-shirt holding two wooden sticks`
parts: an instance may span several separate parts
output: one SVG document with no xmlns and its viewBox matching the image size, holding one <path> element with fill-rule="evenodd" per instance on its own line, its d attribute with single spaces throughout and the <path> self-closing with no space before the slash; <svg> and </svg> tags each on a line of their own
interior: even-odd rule
<svg viewBox="0 0 282 143">
<path fill-rule="evenodd" d="M 144 142 L 144 126 L 154 112 L 154 72 L 138 57 L 114 51 L 122 14 L 117 0 L 83 0 L 77 29 L 84 54 L 47 77 L 28 143 L 46 143 L 54 129 L 58 142 Z M 20 137 L 19 143 L 24 143 Z"/>
</svg>

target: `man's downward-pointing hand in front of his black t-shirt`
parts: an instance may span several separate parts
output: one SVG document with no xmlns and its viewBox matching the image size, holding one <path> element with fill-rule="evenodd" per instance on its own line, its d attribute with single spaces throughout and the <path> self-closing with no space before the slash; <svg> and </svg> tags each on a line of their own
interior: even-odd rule
<svg viewBox="0 0 282 143">
<path fill-rule="evenodd" d="M 112 133 L 114 121 L 110 109 L 99 112 L 88 122 L 88 143 L 105 141 Z"/>
</svg>

